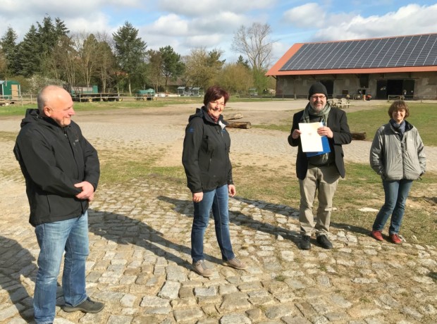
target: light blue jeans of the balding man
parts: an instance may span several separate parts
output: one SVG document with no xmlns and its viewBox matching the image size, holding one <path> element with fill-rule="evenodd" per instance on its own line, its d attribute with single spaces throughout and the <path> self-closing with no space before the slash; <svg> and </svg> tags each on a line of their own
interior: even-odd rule
<svg viewBox="0 0 437 324">
<path fill-rule="evenodd" d="M 85 261 L 88 250 L 88 213 L 78 218 L 37 225 L 39 245 L 38 273 L 33 308 L 36 323 L 52 323 L 56 310 L 56 286 L 61 268 L 63 299 L 77 306 L 87 299 L 85 292 Z"/>
</svg>

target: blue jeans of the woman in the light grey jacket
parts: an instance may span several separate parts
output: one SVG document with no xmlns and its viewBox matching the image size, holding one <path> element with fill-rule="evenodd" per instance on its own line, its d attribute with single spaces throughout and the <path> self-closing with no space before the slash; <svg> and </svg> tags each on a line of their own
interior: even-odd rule
<svg viewBox="0 0 437 324">
<path fill-rule="evenodd" d="M 373 230 L 383 230 L 388 218 L 391 215 L 388 234 L 398 234 L 402 218 L 405 212 L 405 201 L 407 201 L 413 180 L 386 181 L 383 180 L 386 201 L 376 215 Z"/>
</svg>

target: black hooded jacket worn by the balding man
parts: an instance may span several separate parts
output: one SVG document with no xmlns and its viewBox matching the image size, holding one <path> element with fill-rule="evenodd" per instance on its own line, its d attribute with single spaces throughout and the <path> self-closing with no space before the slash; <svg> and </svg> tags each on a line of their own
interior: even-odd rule
<svg viewBox="0 0 437 324">
<path fill-rule="evenodd" d="M 13 152 L 25 177 L 33 225 L 75 218 L 88 208 L 87 200 L 75 197 L 78 182 L 99 182 L 97 151 L 71 121 L 60 127 L 54 120 L 27 109 Z"/>
</svg>

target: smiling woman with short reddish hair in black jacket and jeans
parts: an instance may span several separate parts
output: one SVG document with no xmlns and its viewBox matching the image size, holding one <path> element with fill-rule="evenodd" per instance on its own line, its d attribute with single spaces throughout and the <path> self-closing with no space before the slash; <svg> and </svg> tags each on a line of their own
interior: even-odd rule
<svg viewBox="0 0 437 324">
<path fill-rule="evenodd" d="M 236 192 L 229 159 L 230 137 L 221 116 L 228 99 L 229 94 L 221 87 L 209 87 L 204 95 L 204 106 L 196 109 L 185 128 L 182 163 L 195 209 L 191 230 L 192 268 L 204 277 L 213 275 L 204 262 L 203 253 L 211 209 L 223 265 L 247 268 L 235 258 L 230 243 L 228 195 L 233 197 Z"/>
</svg>

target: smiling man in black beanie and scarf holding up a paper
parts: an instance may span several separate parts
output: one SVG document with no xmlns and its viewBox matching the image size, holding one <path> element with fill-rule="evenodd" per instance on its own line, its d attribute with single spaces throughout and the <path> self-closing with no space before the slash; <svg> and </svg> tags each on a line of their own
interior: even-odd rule
<svg viewBox="0 0 437 324">
<path fill-rule="evenodd" d="M 327 96 L 326 87 L 320 82 L 309 88 L 309 104 L 293 116 L 293 126 L 288 136 L 288 143 L 292 147 L 298 147 L 296 173 L 300 185 L 300 249 L 311 249 L 310 238 L 314 229 L 316 241 L 321 247 L 333 247 L 327 234 L 338 180 L 340 176 L 345 177 L 342 144 L 349 144 L 352 140 L 345 112 L 329 106 Z M 328 147 L 323 152 L 302 151 L 299 123 L 321 123 L 317 133 L 327 139 Z M 312 207 L 316 192 L 319 207 L 314 224 Z"/>
</svg>

